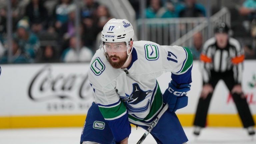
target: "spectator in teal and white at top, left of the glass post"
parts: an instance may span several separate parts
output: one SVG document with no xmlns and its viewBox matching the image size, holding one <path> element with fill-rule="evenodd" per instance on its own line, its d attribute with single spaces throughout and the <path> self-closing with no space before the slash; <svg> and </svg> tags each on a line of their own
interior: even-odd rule
<svg viewBox="0 0 256 144">
<path fill-rule="evenodd" d="M 72 0 L 59 0 L 59 3 L 53 10 L 51 24 L 48 29 L 49 32 L 59 32 L 62 24 L 68 21 L 69 8 L 72 5 L 71 3 Z"/>
</svg>

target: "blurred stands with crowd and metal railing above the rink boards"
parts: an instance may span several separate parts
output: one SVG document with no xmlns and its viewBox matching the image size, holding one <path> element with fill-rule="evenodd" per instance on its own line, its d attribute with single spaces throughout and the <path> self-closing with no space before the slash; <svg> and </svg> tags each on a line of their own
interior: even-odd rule
<svg viewBox="0 0 256 144">
<path fill-rule="evenodd" d="M 226 22 L 245 58 L 256 58 L 253 0 L 0 0 L 0 63 L 90 61 L 111 18 L 128 19 L 135 40 L 193 52 Z"/>
</svg>

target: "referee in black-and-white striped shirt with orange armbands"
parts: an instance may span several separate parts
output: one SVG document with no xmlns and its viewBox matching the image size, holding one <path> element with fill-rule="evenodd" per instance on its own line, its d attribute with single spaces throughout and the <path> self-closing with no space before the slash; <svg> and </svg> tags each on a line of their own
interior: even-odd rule
<svg viewBox="0 0 256 144">
<path fill-rule="evenodd" d="M 195 135 L 199 135 L 201 128 L 205 127 L 212 94 L 221 79 L 232 95 L 244 128 L 247 128 L 249 135 L 255 134 L 255 124 L 241 87 L 244 51 L 236 39 L 228 36 L 228 31 L 225 23 L 218 23 L 214 28 L 215 37 L 203 46 L 200 56 L 203 89 L 194 120 Z"/>
</svg>

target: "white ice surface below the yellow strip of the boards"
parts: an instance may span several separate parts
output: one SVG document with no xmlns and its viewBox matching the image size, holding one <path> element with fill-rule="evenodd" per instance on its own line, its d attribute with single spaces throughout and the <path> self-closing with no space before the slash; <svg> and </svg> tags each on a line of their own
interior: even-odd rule
<svg viewBox="0 0 256 144">
<path fill-rule="evenodd" d="M 192 127 L 184 127 L 188 144 L 256 144 L 243 128 L 206 128 L 195 138 Z M 79 144 L 82 128 L 0 129 L 0 144 Z M 136 144 L 145 132 L 132 128 L 129 144 Z M 143 144 L 156 144 L 148 135 Z"/>
</svg>

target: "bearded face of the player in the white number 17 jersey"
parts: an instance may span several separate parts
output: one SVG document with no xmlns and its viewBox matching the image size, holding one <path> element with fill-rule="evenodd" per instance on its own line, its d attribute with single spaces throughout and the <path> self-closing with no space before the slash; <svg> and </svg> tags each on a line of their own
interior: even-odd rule
<svg viewBox="0 0 256 144">
<path fill-rule="evenodd" d="M 124 42 L 105 43 L 108 61 L 113 68 L 121 68 L 127 60 L 127 47 Z"/>
</svg>

